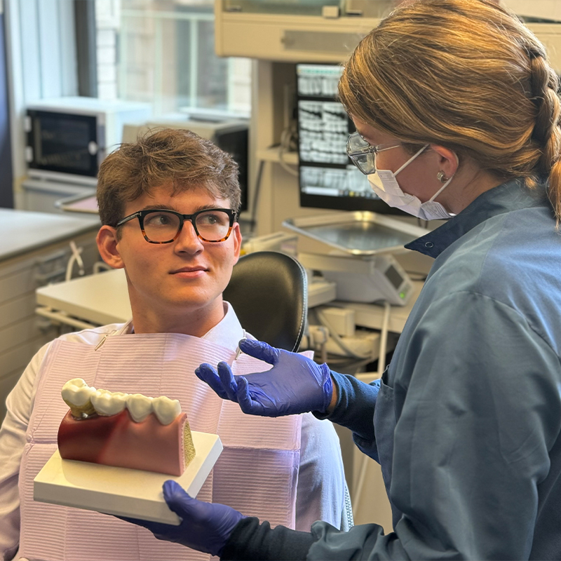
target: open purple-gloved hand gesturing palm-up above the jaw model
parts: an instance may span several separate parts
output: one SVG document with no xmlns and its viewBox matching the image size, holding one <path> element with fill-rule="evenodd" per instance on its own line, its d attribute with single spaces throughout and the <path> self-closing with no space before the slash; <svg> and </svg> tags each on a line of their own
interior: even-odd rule
<svg viewBox="0 0 561 561">
<path fill-rule="evenodd" d="M 195 374 L 222 399 L 239 403 L 244 413 L 281 417 L 327 410 L 333 385 L 326 364 L 318 365 L 305 356 L 252 339 L 243 339 L 240 349 L 272 364 L 273 368 L 234 376 L 227 363 L 218 363 L 218 372 L 210 364 L 201 364 Z"/>
</svg>

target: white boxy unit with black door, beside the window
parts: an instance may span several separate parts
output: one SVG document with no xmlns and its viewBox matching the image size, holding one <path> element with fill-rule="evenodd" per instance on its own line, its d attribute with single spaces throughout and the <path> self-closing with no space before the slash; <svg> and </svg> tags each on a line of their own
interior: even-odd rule
<svg viewBox="0 0 561 561">
<path fill-rule="evenodd" d="M 150 116 L 149 104 L 95 97 L 30 103 L 24 120 L 29 177 L 95 186 L 100 163 L 121 142 L 123 124 Z"/>
</svg>

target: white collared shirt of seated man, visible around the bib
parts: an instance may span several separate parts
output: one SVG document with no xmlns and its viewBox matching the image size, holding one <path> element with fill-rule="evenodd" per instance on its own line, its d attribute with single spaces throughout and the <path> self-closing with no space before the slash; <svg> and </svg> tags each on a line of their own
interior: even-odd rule
<svg viewBox="0 0 561 561">
<path fill-rule="evenodd" d="M 72 332 L 60 338 L 97 345 L 105 337 L 133 334 L 133 320 Z M 203 339 L 235 351 L 243 337 L 234 309 L 224 302 L 224 318 Z M 26 442 L 27 425 L 36 394 L 35 379 L 50 343 L 32 358 L 6 399 L 6 418 L 0 428 L 0 559 L 11 559 L 20 535 L 18 475 Z M 296 529 L 309 532 L 315 520 L 339 527 L 344 511 L 344 471 L 339 438 L 330 421 L 311 413 L 302 416 L 302 439 L 296 500 Z"/>
</svg>

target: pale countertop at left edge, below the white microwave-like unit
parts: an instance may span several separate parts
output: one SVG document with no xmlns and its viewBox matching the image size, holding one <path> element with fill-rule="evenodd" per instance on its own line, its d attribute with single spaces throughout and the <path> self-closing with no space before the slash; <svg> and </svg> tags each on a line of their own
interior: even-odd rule
<svg viewBox="0 0 561 561">
<path fill-rule="evenodd" d="M 90 215 L 67 217 L 0 208 L 0 261 L 90 230 L 95 232 L 99 227 L 99 218 Z"/>
</svg>

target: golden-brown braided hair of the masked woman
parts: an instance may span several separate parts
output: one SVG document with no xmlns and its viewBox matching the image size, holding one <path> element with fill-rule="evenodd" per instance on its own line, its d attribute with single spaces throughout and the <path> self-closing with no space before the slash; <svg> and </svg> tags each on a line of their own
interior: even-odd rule
<svg viewBox="0 0 561 561">
<path fill-rule="evenodd" d="M 559 80 L 545 48 L 489 0 L 396 8 L 347 62 L 339 97 L 351 115 L 412 144 L 471 156 L 503 180 L 549 178 L 561 218 Z"/>
</svg>

